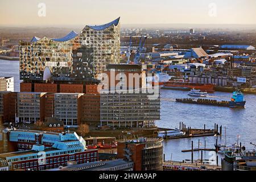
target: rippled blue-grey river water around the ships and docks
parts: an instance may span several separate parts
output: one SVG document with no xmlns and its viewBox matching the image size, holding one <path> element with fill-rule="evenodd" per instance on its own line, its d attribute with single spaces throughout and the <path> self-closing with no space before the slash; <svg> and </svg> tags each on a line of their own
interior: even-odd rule
<svg viewBox="0 0 256 182">
<path fill-rule="evenodd" d="M 14 76 L 15 91 L 19 91 L 19 61 L 0 60 L 0 76 Z M 200 137 L 164 140 L 164 154 L 166 160 L 184 160 L 191 159 L 191 153 L 181 152 L 181 150 L 190 149 L 193 140 L 194 148 L 204 147 L 206 142 L 207 148 L 214 148 L 216 139 L 224 143 L 224 128 L 226 127 L 226 142 L 235 143 L 237 136 L 242 145 L 247 148 L 254 148 L 250 142 L 256 143 L 256 95 L 245 94 L 245 109 L 230 109 L 229 107 L 193 105 L 175 102 L 176 98 L 185 98 L 187 91 L 180 90 L 160 90 L 161 97 L 161 119 L 156 122 L 159 127 L 174 129 L 179 128 L 179 122 L 185 123 L 192 128 L 214 129 L 214 123 L 222 125 L 222 137 Z M 210 98 L 215 100 L 230 100 L 232 93 L 215 92 L 210 94 Z M 198 140 L 200 139 L 200 142 Z M 239 142 L 240 142 L 239 141 Z M 212 152 L 203 152 L 203 158 L 209 159 Z M 201 152 L 194 152 L 194 159 L 201 158 Z M 220 160 L 219 160 L 220 163 Z"/>
</svg>

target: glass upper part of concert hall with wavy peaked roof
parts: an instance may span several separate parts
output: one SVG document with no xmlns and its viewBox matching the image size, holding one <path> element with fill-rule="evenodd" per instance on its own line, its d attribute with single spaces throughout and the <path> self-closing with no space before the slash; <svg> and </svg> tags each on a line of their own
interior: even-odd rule
<svg viewBox="0 0 256 182">
<path fill-rule="evenodd" d="M 107 64 L 119 63 L 120 23 L 117 18 L 85 26 L 63 38 L 20 40 L 20 80 L 94 81 Z"/>
</svg>

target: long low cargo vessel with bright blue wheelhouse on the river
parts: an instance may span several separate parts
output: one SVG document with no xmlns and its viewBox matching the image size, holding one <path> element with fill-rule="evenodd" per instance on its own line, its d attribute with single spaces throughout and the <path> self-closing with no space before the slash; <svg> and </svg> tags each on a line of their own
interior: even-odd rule
<svg viewBox="0 0 256 182">
<path fill-rule="evenodd" d="M 224 106 L 224 107 L 245 107 L 245 100 L 243 98 L 243 93 L 238 90 L 233 92 L 233 96 L 231 101 L 217 101 L 217 100 L 209 100 L 209 99 L 193 99 L 193 98 L 176 98 L 176 102 L 183 102 L 188 104 L 201 104 L 201 105 L 213 105 L 213 106 Z"/>
</svg>

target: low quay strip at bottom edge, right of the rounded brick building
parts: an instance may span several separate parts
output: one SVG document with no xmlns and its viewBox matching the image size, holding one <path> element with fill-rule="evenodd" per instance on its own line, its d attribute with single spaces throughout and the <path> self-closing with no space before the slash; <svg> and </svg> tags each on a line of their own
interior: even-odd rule
<svg viewBox="0 0 256 182">
<path fill-rule="evenodd" d="M 168 160 L 163 162 L 163 171 L 221 171 L 221 166 L 210 165 L 200 160 L 193 163 Z"/>
</svg>

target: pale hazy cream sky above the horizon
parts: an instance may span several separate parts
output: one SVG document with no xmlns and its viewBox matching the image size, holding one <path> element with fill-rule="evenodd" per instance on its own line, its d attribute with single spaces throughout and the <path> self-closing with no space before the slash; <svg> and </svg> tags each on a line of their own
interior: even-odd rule
<svg viewBox="0 0 256 182">
<path fill-rule="evenodd" d="M 102 24 L 118 16 L 122 24 L 256 24 L 255 9 L 256 0 L 0 0 L 0 25 Z"/>
</svg>

